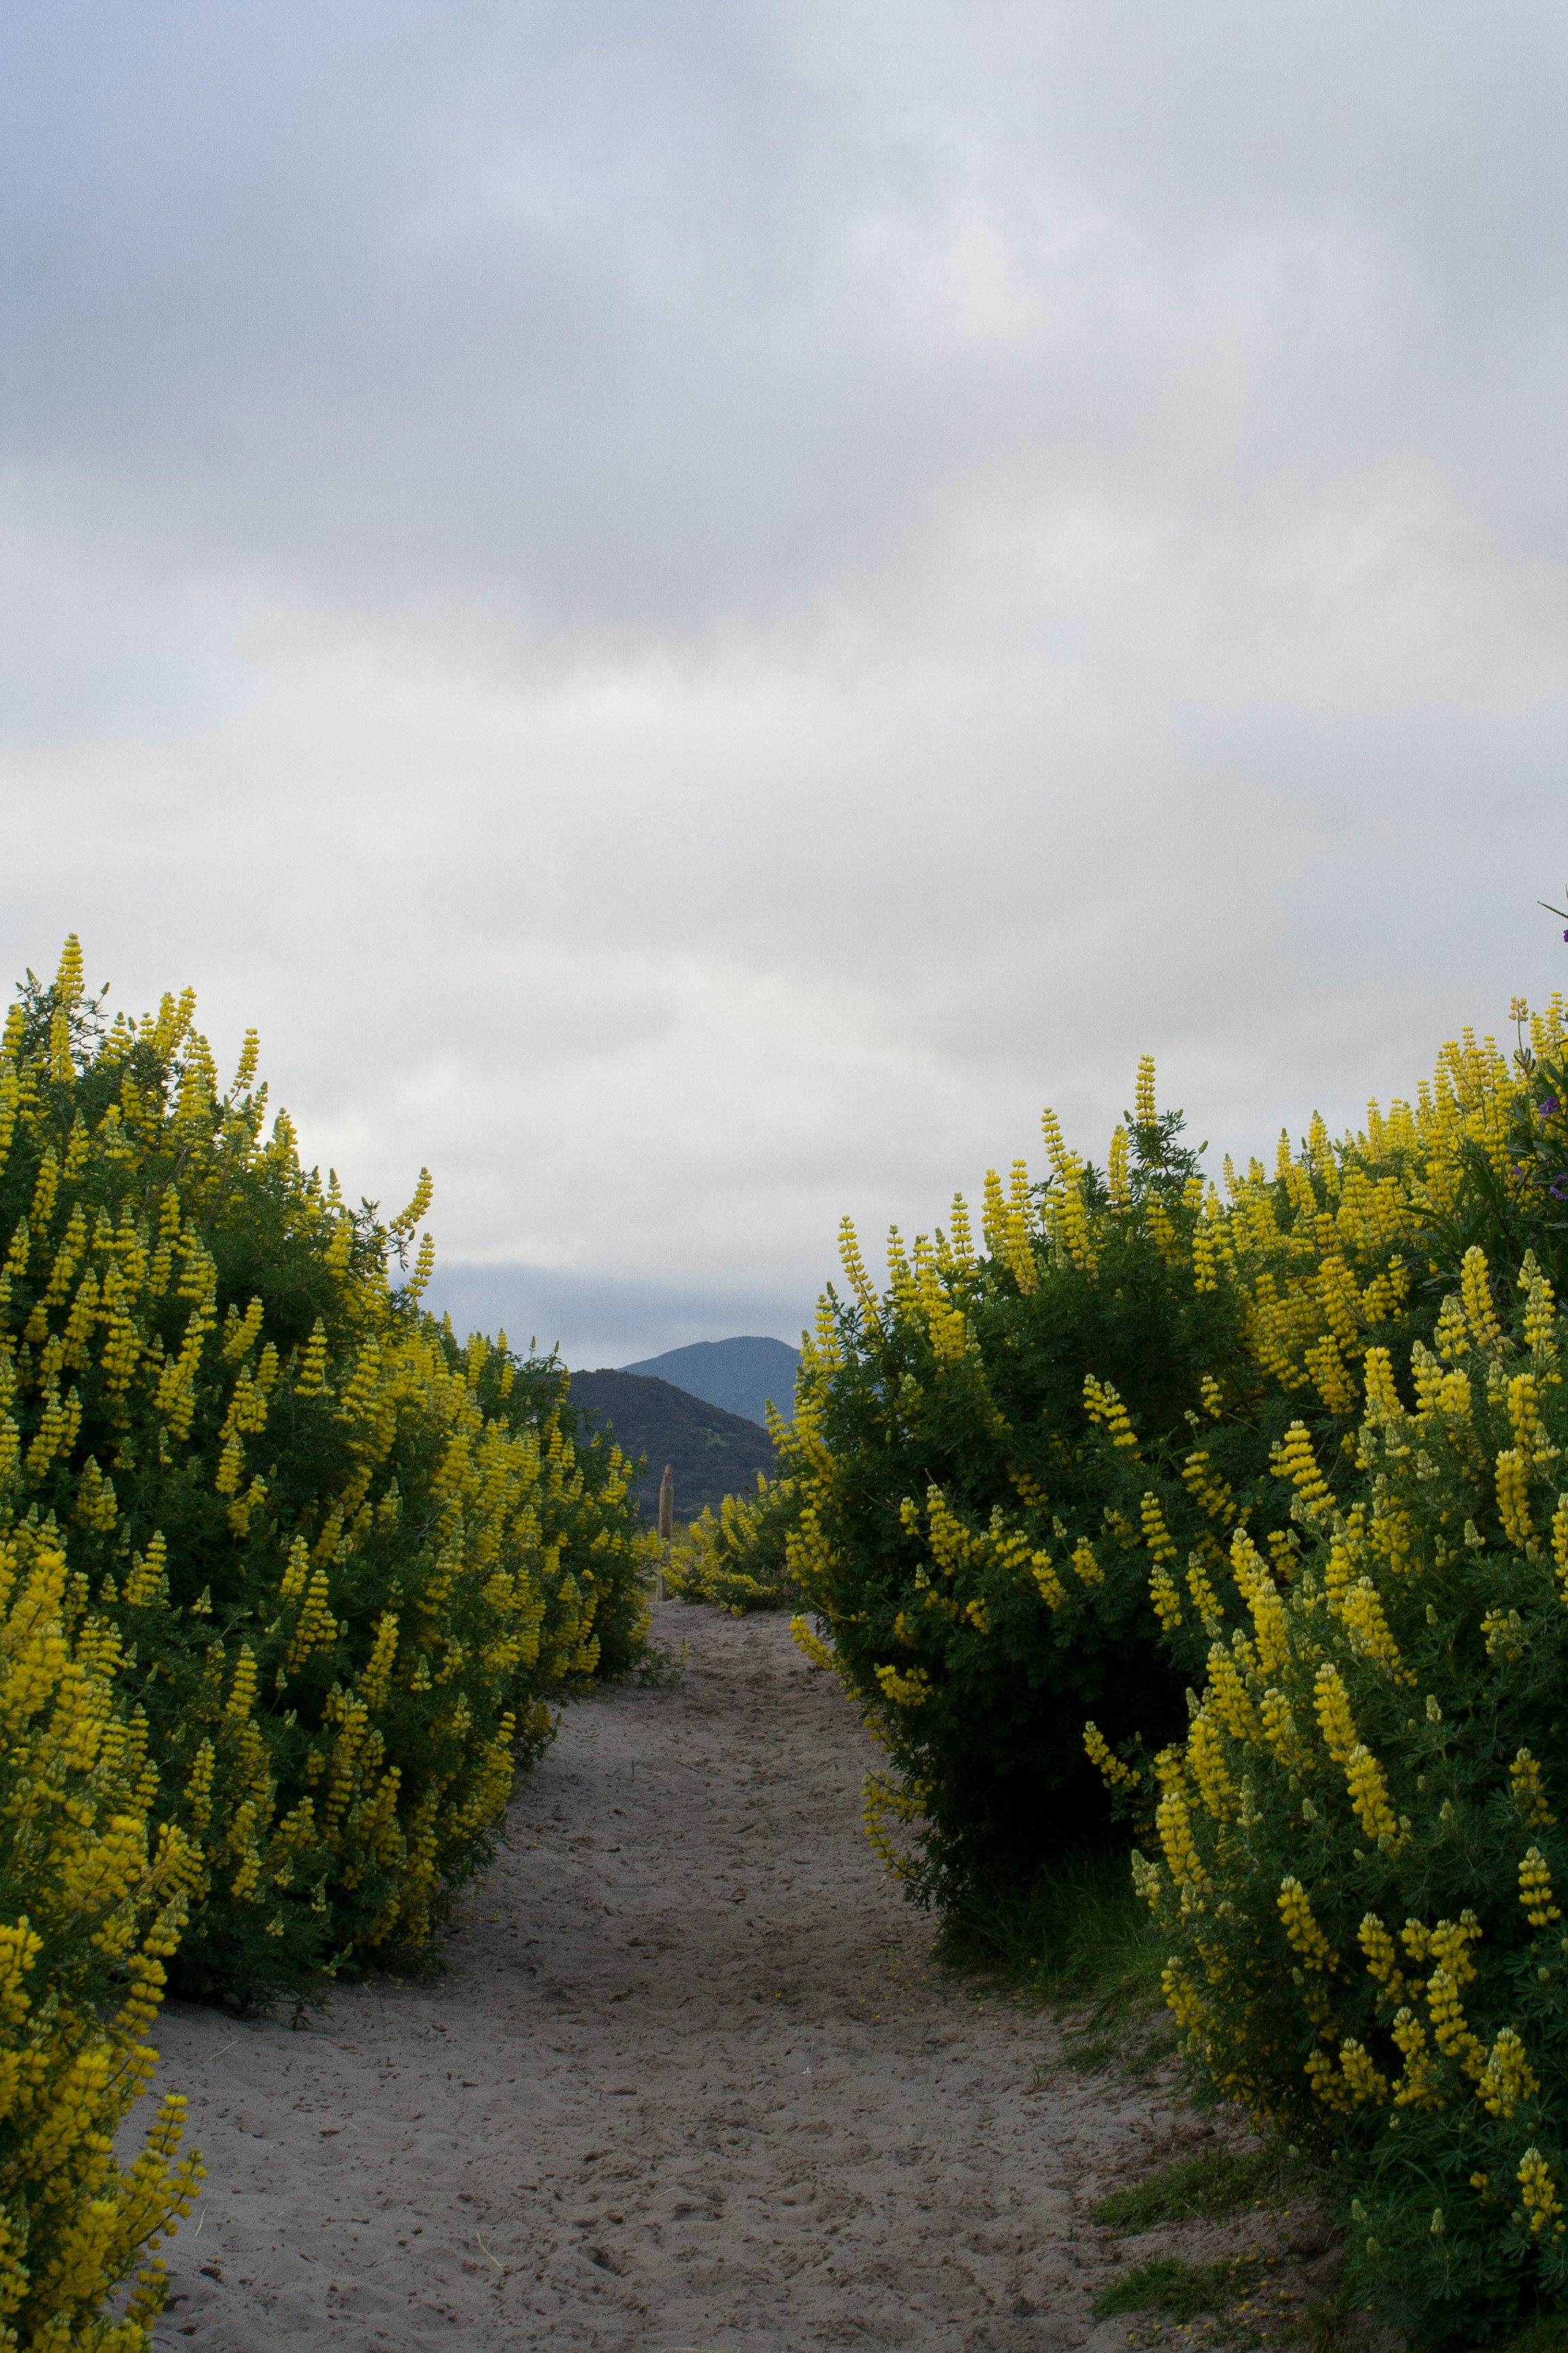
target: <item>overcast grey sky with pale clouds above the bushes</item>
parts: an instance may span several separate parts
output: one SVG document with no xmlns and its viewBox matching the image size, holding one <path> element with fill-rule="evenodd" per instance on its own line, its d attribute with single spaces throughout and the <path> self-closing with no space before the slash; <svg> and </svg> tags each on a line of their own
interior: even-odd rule
<svg viewBox="0 0 1568 2353">
<path fill-rule="evenodd" d="M 0 911 L 442 1299 L 799 1334 L 1568 981 L 1568 14 L 12 0 Z"/>
</svg>

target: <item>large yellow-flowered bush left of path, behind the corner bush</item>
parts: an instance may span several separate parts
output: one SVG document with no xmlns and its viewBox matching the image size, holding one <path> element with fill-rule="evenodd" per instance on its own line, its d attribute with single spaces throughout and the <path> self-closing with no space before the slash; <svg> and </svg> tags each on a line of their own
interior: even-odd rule
<svg viewBox="0 0 1568 2353">
<path fill-rule="evenodd" d="M 381 1221 L 219 1089 L 195 1000 L 106 1024 L 68 941 L 0 1052 L 0 1527 L 71 1529 L 200 1852 L 181 1986 L 418 1953 L 545 1694 L 642 1640 L 646 1539 L 555 1365 L 418 1306 Z"/>
</svg>

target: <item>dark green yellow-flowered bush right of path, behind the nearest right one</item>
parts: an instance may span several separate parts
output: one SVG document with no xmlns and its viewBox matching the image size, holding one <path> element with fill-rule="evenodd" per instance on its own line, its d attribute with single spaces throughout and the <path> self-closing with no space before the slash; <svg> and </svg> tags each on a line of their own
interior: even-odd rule
<svg viewBox="0 0 1568 2353">
<path fill-rule="evenodd" d="M 795 1581 L 896 1765 L 872 1833 L 891 1857 L 889 1807 L 919 1819 L 900 1868 L 947 1911 L 1110 1833 L 1084 1720 L 1112 1751 L 1180 1729 L 1227 1527 L 1288 1548 L 1274 1445 L 1300 1417 L 1324 1447 L 1349 1428 L 1326 1318 L 1347 1289 L 1378 1337 L 1410 1315 L 1408 1214 L 1359 1217 L 1375 1188 L 1326 1134 L 1222 1209 L 1145 1064 L 1105 1172 L 1048 1113 L 1046 1141 L 1044 1184 L 985 1179 L 983 1252 L 957 1200 L 912 1257 L 891 1238 L 884 1294 L 846 1221 L 849 1292 L 820 1304 L 783 1433 Z"/>
</svg>

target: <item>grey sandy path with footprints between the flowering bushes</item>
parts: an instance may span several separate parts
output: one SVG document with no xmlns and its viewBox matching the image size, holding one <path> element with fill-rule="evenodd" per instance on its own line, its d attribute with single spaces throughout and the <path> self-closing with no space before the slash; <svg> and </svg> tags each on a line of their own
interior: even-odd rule
<svg viewBox="0 0 1568 2353">
<path fill-rule="evenodd" d="M 169 2009 L 209 2167 L 169 2353 L 1126 2344 L 1084 2207 L 1166 2111 L 1034 2087 L 1051 2028 L 929 1967 L 780 1619 L 658 1635 L 684 1678 L 567 1711 L 444 1984 L 299 2033 Z"/>
</svg>

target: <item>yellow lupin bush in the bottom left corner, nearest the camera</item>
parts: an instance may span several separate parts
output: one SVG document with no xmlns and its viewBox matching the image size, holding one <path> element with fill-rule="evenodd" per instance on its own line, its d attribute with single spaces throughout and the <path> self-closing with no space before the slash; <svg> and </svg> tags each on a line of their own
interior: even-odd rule
<svg viewBox="0 0 1568 2353">
<path fill-rule="evenodd" d="M 35 1525 L 0 1541 L 0 2337 L 141 2353 L 162 2264 L 110 2299 L 202 2177 L 169 2094 L 122 2169 L 113 2137 L 158 2054 L 141 2040 L 195 1857 L 150 1831 L 148 1727 L 118 1706 L 120 1638 Z"/>
</svg>

